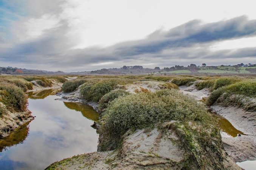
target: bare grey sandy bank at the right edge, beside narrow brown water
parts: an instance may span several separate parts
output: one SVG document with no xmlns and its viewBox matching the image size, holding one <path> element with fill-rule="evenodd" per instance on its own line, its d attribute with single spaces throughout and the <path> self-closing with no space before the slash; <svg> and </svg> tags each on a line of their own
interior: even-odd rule
<svg viewBox="0 0 256 170">
<path fill-rule="evenodd" d="M 211 106 L 214 112 L 225 117 L 246 135 L 222 137 L 225 150 L 236 161 L 256 159 L 256 112 L 247 112 L 234 106 Z"/>
</svg>

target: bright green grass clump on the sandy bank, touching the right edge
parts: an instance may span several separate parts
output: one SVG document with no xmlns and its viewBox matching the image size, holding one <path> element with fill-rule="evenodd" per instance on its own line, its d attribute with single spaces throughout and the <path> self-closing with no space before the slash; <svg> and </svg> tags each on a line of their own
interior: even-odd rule
<svg viewBox="0 0 256 170">
<path fill-rule="evenodd" d="M 237 82 L 228 86 L 224 86 L 214 90 L 207 99 L 207 105 L 213 105 L 222 94 L 231 96 L 233 94 L 240 94 L 249 97 L 256 97 L 256 82 L 243 81 Z M 221 101 L 219 101 L 221 102 Z"/>
</svg>

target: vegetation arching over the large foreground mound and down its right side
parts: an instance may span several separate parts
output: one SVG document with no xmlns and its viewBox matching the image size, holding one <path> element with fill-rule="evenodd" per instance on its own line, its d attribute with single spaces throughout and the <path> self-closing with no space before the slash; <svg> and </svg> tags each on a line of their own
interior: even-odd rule
<svg viewBox="0 0 256 170">
<path fill-rule="evenodd" d="M 119 97 L 109 103 L 100 120 L 99 150 L 122 146 L 122 136 L 129 129 L 154 127 L 167 121 L 187 150 L 185 162 L 197 168 L 222 167 L 222 143 L 216 121 L 205 107 L 177 90 L 139 93 Z M 164 129 L 162 129 L 164 131 Z M 213 159 L 214 158 L 214 159 Z"/>
</svg>

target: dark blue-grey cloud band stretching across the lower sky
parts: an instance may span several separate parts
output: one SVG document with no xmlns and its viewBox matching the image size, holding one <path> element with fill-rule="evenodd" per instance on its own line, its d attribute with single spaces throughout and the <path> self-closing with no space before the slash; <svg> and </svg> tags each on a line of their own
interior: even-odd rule
<svg viewBox="0 0 256 170">
<path fill-rule="evenodd" d="M 70 50 L 65 33 L 68 26 L 62 21 L 57 29 L 47 30 L 42 38 L 0 49 L 0 61 L 47 64 L 51 67 L 79 67 L 101 62 L 165 62 L 167 59 L 248 58 L 255 60 L 256 49 L 219 50 L 213 43 L 256 36 L 256 20 L 237 17 L 227 21 L 202 24 L 193 20 L 169 31 L 156 30 L 145 39 L 118 43 L 110 47 L 91 47 Z M 157 59 L 157 61 L 156 61 Z M 134 63 L 135 64 L 135 63 Z M 90 67 L 93 68 L 93 67 Z"/>
</svg>

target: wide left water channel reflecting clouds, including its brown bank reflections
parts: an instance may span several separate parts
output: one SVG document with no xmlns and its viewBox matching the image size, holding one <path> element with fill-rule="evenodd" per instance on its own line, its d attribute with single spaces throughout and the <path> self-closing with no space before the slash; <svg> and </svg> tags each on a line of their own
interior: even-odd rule
<svg viewBox="0 0 256 170">
<path fill-rule="evenodd" d="M 91 127 L 99 114 L 92 107 L 64 103 L 57 90 L 29 93 L 34 120 L 0 140 L 0 169 L 44 169 L 73 155 L 97 150 L 98 135 Z"/>
</svg>

